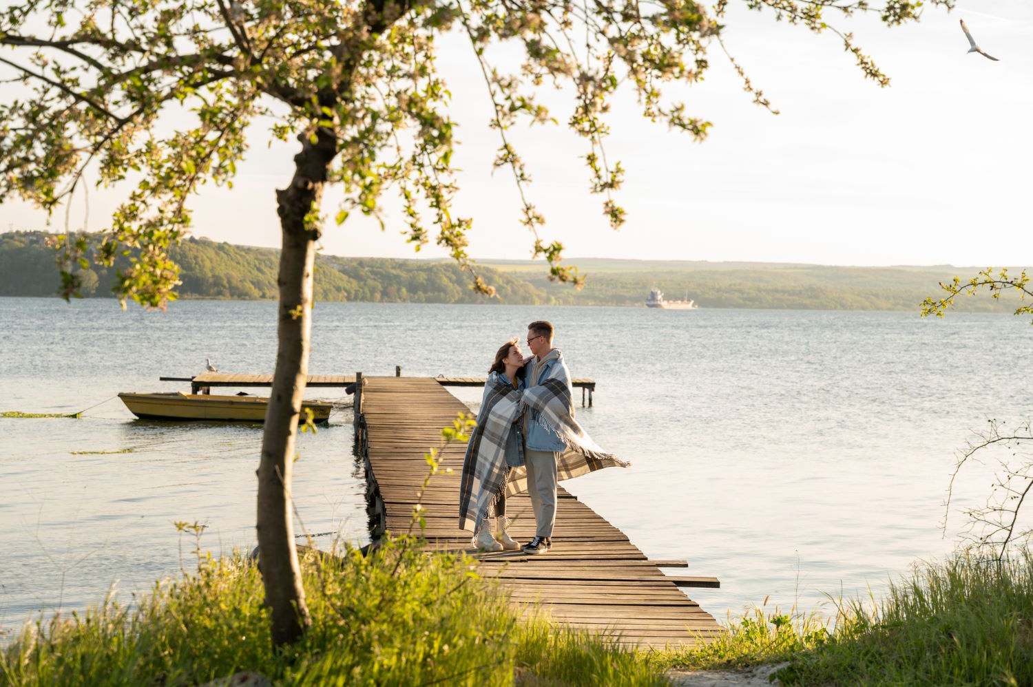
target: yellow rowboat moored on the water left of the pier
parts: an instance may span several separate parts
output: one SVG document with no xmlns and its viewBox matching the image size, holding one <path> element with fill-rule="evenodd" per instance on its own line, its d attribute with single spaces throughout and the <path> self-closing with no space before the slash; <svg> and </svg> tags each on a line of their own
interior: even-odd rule
<svg viewBox="0 0 1033 687">
<path fill-rule="evenodd" d="M 129 412 L 140 419 L 228 419 L 247 423 L 265 421 L 269 399 L 255 396 L 209 396 L 207 394 L 130 394 L 123 392 L 119 398 Z M 313 423 L 330 420 L 333 403 L 302 401 L 302 421 L 305 409 L 312 410 Z"/>
</svg>

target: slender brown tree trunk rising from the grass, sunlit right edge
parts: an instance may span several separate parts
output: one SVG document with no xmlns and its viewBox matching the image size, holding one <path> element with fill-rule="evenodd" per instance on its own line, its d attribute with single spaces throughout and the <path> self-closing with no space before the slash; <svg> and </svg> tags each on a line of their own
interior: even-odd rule
<svg viewBox="0 0 1033 687">
<path fill-rule="evenodd" d="M 307 226 L 306 217 L 318 209 L 326 171 L 337 155 L 332 135 L 320 133 L 314 144 L 308 136 L 300 140 L 302 152 L 294 156 L 290 186 L 276 194 L 283 235 L 276 372 L 258 465 L 258 560 L 275 646 L 296 642 L 312 623 L 294 549 L 290 478 L 309 369 L 312 275 L 319 239 L 318 225 Z"/>
</svg>

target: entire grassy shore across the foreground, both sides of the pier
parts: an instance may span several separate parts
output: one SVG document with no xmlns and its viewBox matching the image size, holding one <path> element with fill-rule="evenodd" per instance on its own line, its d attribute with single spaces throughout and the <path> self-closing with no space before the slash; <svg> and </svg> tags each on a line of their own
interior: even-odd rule
<svg viewBox="0 0 1033 687">
<path fill-rule="evenodd" d="M 196 685 L 256 670 L 284 685 L 663 685 L 669 667 L 788 662 L 788 685 L 1033 684 L 1033 557 L 1000 571 L 959 556 L 917 566 L 835 623 L 755 608 L 708 646 L 645 653 L 544 618 L 521 621 L 472 561 L 395 543 L 303 559 L 313 625 L 271 649 L 255 566 L 201 560 L 128 607 L 108 602 L 27 626 L 0 684 Z"/>
</svg>

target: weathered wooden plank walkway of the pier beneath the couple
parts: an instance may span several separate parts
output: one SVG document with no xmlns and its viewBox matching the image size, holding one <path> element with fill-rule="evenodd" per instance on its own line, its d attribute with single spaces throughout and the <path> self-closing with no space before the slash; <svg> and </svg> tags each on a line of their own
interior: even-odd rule
<svg viewBox="0 0 1033 687">
<path fill-rule="evenodd" d="M 430 377 L 363 377 L 355 399 L 356 447 L 369 485 L 374 536 L 409 528 L 419 488 L 428 473 L 424 459 L 467 407 Z M 483 382 L 481 382 L 483 383 Z M 459 483 L 465 444 L 444 448 L 442 468 L 422 496 L 424 535 L 435 551 L 470 549 L 470 532 L 459 529 Z M 614 468 L 618 469 L 618 468 Z M 660 567 L 684 561 L 651 561 L 627 535 L 559 490 L 555 545 L 545 554 L 480 554 L 482 575 L 498 579 L 513 602 L 538 601 L 555 619 L 608 632 L 628 646 L 663 648 L 707 641 L 722 631 L 714 617 L 679 587 L 718 587 L 715 577 L 666 575 Z M 534 535 L 526 493 L 507 500 L 510 534 L 522 543 Z M 525 613 L 527 610 L 525 608 Z"/>
</svg>

